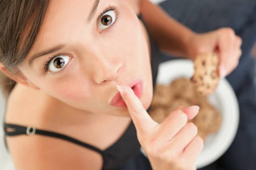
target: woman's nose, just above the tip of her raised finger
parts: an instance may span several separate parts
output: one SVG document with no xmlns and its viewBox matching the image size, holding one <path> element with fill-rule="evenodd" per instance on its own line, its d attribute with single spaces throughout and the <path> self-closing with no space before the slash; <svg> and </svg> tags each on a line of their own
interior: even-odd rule
<svg viewBox="0 0 256 170">
<path fill-rule="evenodd" d="M 117 79 L 117 76 L 123 67 L 123 63 L 116 61 L 116 58 L 113 57 L 97 57 L 93 74 L 95 83 L 101 84 L 106 81 L 115 81 Z"/>
</svg>

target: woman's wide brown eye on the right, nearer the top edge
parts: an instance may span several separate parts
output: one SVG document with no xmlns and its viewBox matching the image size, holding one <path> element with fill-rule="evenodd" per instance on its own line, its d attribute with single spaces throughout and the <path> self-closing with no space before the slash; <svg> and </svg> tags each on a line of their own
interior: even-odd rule
<svg viewBox="0 0 256 170">
<path fill-rule="evenodd" d="M 110 27 L 116 20 L 115 11 L 107 11 L 105 12 L 99 20 L 99 30 L 105 30 Z"/>
</svg>

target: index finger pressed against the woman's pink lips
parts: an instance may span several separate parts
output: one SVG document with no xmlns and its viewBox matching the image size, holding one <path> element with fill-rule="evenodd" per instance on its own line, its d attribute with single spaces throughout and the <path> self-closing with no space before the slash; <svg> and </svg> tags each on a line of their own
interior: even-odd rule
<svg viewBox="0 0 256 170">
<path fill-rule="evenodd" d="M 116 85 L 116 87 L 126 103 L 137 132 L 143 134 L 153 129 L 158 123 L 150 117 L 134 91 L 126 85 Z"/>
</svg>

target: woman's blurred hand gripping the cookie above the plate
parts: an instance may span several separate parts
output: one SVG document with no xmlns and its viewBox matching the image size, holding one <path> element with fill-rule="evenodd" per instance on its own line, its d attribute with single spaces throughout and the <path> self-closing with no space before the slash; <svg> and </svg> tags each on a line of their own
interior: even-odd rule
<svg viewBox="0 0 256 170">
<path fill-rule="evenodd" d="M 238 65 L 242 54 L 242 39 L 231 28 L 221 28 L 203 34 L 193 34 L 187 41 L 187 55 L 194 58 L 205 52 L 219 56 L 219 75 L 224 78 Z"/>
</svg>

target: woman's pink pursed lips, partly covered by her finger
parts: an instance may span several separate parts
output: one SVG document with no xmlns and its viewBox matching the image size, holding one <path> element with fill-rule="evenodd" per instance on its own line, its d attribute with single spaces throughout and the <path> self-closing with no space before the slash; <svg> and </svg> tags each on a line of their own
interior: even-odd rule
<svg viewBox="0 0 256 170">
<path fill-rule="evenodd" d="M 136 79 L 128 84 L 129 87 L 134 91 L 134 94 L 140 99 L 143 91 L 143 81 L 142 79 Z M 115 107 L 127 107 L 124 99 L 119 92 L 113 97 L 110 105 Z"/>
</svg>

